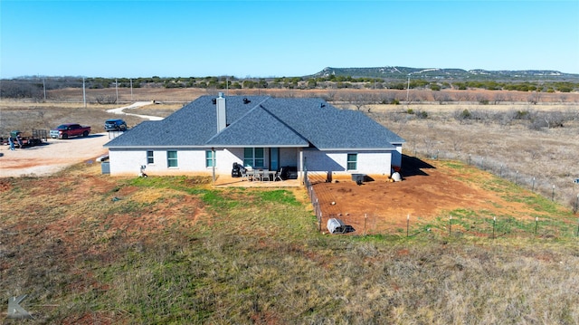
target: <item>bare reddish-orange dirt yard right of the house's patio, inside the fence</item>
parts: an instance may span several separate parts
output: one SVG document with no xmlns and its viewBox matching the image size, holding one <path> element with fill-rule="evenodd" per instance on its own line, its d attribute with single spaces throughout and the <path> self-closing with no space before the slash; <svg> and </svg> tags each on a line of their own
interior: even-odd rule
<svg viewBox="0 0 579 325">
<path fill-rule="evenodd" d="M 456 209 L 475 211 L 489 220 L 493 216 L 533 213 L 532 206 L 508 201 L 484 189 L 482 183 L 491 177 L 489 174 L 474 167 L 462 171 L 433 166 L 436 164 L 404 156 L 400 182 L 376 179 L 356 185 L 351 179 L 329 183 L 318 177 L 313 188 L 322 211 L 321 231 L 327 232 L 329 218 L 351 225 L 351 234 L 393 234 L 405 233 L 407 218 L 415 229 L 417 224 L 447 217 L 445 212 Z M 460 181 L 461 177 L 470 181 Z"/>
</svg>

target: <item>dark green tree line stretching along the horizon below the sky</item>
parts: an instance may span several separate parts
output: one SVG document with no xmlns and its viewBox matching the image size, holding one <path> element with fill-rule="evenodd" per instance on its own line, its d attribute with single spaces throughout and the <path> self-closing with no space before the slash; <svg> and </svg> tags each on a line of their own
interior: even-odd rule
<svg viewBox="0 0 579 325">
<path fill-rule="evenodd" d="M 409 78 L 407 81 L 352 76 L 328 75 L 323 77 L 236 78 L 233 76 L 207 77 L 147 77 L 147 78 L 79 78 L 28 77 L 4 79 L 1 98 L 43 98 L 45 92 L 63 88 L 202 88 L 202 89 L 391 89 L 391 90 L 489 90 L 529 92 L 579 91 L 579 83 L 571 81 L 426 81 Z"/>
</svg>

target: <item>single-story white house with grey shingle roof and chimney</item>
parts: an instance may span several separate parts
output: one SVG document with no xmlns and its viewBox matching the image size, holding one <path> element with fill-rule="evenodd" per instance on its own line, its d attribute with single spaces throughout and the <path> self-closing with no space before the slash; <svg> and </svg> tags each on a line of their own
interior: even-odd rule
<svg viewBox="0 0 579 325">
<path fill-rule="evenodd" d="M 331 176 L 390 176 L 404 140 L 360 111 L 325 100 L 202 96 L 104 145 L 111 176 L 231 175 L 233 163 Z"/>
</svg>

